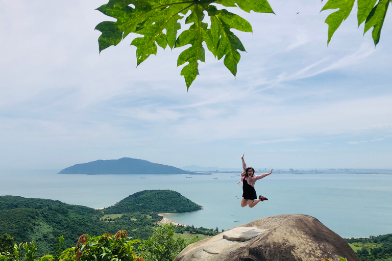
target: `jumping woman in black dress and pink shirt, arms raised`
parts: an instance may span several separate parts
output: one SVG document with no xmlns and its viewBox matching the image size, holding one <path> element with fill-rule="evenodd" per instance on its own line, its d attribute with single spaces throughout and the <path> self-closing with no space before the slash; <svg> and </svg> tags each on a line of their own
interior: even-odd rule
<svg viewBox="0 0 392 261">
<path fill-rule="evenodd" d="M 261 178 L 266 177 L 269 174 L 271 174 L 272 169 L 271 169 L 271 172 L 269 172 L 269 173 L 255 175 L 254 168 L 252 168 L 252 167 L 247 168 L 247 164 L 243 160 L 244 155 L 245 154 L 243 154 L 241 157 L 242 169 L 244 172 L 241 173 L 242 180 L 241 180 L 241 182 L 238 183 L 238 184 L 242 183 L 243 193 L 242 193 L 242 199 L 241 199 L 241 206 L 246 207 L 247 205 L 249 205 L 249 207 L 254 207 L 260 201 L 268 200 L 266 197 L 263 197 L 263 196 L 259 196 L 259 198 L 257 199 L 257 194 L 256 194 L 256 190 L 255 190 L 256 180 L 261 179 Z"/>
</svg>

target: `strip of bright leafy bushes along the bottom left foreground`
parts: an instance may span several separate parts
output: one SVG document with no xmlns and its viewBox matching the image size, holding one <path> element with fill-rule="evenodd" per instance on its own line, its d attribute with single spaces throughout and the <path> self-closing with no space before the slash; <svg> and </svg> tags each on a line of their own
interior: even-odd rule
<svg viewBox="0 0 392 261">
<path fill-rule="evenodd" d="M 83 234 L 75 247 L 64 249 L 64 238 L 59 237 L 53 254 L 37 256 L 37 244 L 14 244 L 9 234 L 0 237 L 0 261 L 171 261 L 190 243 L 197 239 L 185 240 L 174 238 L 173 224 L 164 224 L 153 229 L 152 237 L 144 240 L 128 237 L 125 230 L 119 230 L 115 236 L 105 233 L 103 236 L 92 237 Z M 134 245 L 140 244 L 134 251 Z M 136 252 L 136 253 L 135 253 Z"/>
</svg>

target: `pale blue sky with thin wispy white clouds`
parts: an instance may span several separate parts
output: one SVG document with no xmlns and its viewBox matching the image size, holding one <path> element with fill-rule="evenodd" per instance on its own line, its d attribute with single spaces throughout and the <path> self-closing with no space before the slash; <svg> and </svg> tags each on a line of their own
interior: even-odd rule
<svg viewBox="0 0 392 261">
<path fill-rule="evenodd" d="M 234 77 L 206 54 L 189 90 L 163 50 L 136 68 L 128 36 L 99 53 L 105 1 L 0 0 L 0 169 L 123 157 L 178 168 L 392 168 L 392 23 L 380 43 L 356 4 L 327 45 L 321 1 L 270 1 L 234 33 Z"/>
</svg>

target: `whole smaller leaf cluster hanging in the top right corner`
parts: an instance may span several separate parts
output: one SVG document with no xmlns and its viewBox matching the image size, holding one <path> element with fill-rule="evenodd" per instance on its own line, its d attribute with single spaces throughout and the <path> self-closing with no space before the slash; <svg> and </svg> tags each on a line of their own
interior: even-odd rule
<svg viewBox="0 0 392 261">
<path fill-rule="evenodd" d="M 328 43 L 341 22 L 346 20 L 351 13 L 354 2 L 355 0 L 328 0 L 321 10 L 339 9 L 331 13 L 325 20 L 329 25 Z M 373 27 L 372 37 L 375 45 L 380 41 L 381 29 L 389 3 L 390 0 L 358 0 L 358 27 L 362 22 L 365 22 L 363 34 Z"/>
</svg>

